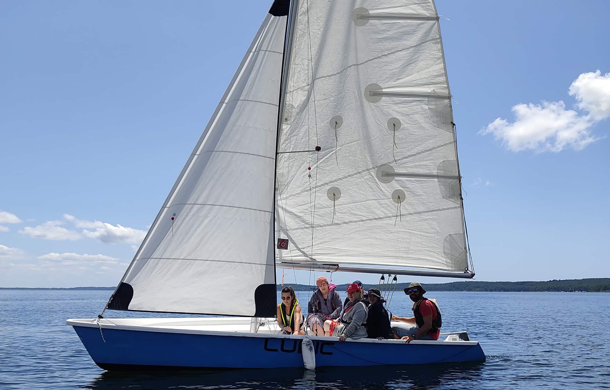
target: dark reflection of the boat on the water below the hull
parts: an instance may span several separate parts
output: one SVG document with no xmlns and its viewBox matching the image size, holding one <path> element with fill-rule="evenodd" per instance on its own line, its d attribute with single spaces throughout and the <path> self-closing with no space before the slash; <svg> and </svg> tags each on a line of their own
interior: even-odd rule
<svg viewBox="0 0 610 390">
<path fill-rule="evenodd" d="M 239 371 L 103 372 L 84 389 L 468 389 L 484 363 Z"/>
</svg>

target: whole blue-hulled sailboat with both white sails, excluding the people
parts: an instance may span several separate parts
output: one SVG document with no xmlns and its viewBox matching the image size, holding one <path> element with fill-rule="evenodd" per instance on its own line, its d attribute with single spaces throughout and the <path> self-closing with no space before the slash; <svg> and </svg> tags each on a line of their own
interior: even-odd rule
<svg viewBox="0 0 610 390">
<path fill-rule="evenodd" d="M 66 323 L 109 370 L 483 361 L 465 332 L 339 342 L 275 318 L 276 267 L 472 278 L 467 249 L 434 2 L 275 0 L 104 311 Z"/>
</svg>

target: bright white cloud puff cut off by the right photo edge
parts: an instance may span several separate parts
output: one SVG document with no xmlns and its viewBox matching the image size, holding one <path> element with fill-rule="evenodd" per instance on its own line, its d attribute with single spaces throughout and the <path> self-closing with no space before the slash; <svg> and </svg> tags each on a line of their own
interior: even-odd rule
<svg viewBox="0 0 610 390">
<path fill-rule="evenodd" d="M 583 73 L 570 85 L 570 96 L 575 96 L 578 108 L 601 120 L 610 116 L 610 73 L 601 76 L 598 69 Z"/>
</svg>

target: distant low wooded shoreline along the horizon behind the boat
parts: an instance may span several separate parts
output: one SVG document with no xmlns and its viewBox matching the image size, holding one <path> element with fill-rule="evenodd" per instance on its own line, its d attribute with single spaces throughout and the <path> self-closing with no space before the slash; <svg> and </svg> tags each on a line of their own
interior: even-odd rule
<svg viewBox="0 0 610 390">
<path fill-rule="evenodd" d="M 395 289 L 398 291 L 406 288 L 409 283 L 398 283 Z M 310 291 L 314 286 L 287 284 L 295 291 Z M 546 282 L 479 282 L 471 280 L 468 282 L 451 283 L 423 283 L 426 291 L 470 291 L 470 292 L 504 292 L 504 293 L 610 293 L 610 278 L 587 278 L 587 279 L 565 279 L 547 280 Z M 278 285 L 278 291 L 283 286 Z M 378 285 L 364 285 L 365 289 L 377 288 Z M 338 285 L 339 291 L 345 291 L 347 284 Z M 389 289 L 386 285 L 384 289 Z M 115 287 L 0 287 L 0 290 L 111 290 Z"/>
</svg>

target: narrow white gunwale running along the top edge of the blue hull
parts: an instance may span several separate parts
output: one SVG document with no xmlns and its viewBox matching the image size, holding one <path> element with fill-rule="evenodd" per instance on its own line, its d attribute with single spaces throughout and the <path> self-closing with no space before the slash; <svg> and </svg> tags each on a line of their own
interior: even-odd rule
<svg viewBox="0 0 610 390">
<path fill-rule="evenodd" d="M 123 319 L 123 318 L 121 318 Z M 137 318 L 133 318 L 134 320 Z M 154 318 L 151 318 L 154 319 Z M 106 319 L 109 321 L 109 319 Z M 103 321 L 103 319 L 102 319 Z M 298 335 L 282 335 L 281 333 L 249 333 L 249 332 L 235 332 L 235 331 L 220 331 L 220 330 L 196 330 L 196 329 L 180 329 L 180 328 L 162 328 L 162 327 L 151 327 L 142 325 L 124 325 L 124 324 L 112 324 L 107 322 L 98 322 L 98 319 L 67 319 L 66 325 L 73 327 L 87 327 L 87 328 L 101 328 L 107 330 L 128 330 L 134 332 L 152 332 L 152 333 L 178 333 L 187 335 L 204 335 L 204 336 L 225 336 L 225 337 L 254 337 L 254 338 L 287 338 L 287 339 L 303 339 L 304 336 Z M 229 324 L 228 324 L 229 325 Z M 334 341 L 339 342 L 339 339 L 332 336 L 309 336 L 312 340 L 320 341 Z M 356 340 L 350 340 L 345 342 L 369 342 L 374 344 L 407 344 L 403 340 L 398 339 L 369 339 L 362 338 Z M 413 340 L 408 344 L 426 344 L 432 346 L 476 346 L 479 344 L 478 341 L 444 341 L 444 340 Z"/>
</svg>

